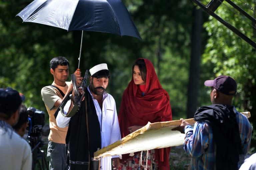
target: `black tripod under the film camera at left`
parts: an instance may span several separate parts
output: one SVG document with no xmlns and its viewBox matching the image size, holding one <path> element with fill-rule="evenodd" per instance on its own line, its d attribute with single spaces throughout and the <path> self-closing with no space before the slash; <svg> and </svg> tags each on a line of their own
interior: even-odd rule
<svg viewBox="0 0 256 170">
<path fill-rule="evenodd" d="M 41 147 L 44 143 L 42 140 L 38 141 L 37 144 L 32 149 L 32 170 L 35 170 L 36 164 L 38 164 L 40 170 L 49 170 L 49 165 L 47 165 L 46 162 L 46 155 L 43 150 L 41 150 Z"/>
</svg>

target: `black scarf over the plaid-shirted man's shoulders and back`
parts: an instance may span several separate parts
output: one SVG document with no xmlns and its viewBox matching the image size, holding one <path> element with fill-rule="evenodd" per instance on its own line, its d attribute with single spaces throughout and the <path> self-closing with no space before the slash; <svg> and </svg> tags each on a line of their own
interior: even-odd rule
<svg viewBox="0 0 256 170">
<path fill-rule="evenodd" d="M 196 121 L 207 122 L 213 130 L 216 144 L 216 169 L 237 170 L 239 154 L 242 153 L 239 127 L 233 106 L 213 104 L 199 107 Z"/>
</svg>

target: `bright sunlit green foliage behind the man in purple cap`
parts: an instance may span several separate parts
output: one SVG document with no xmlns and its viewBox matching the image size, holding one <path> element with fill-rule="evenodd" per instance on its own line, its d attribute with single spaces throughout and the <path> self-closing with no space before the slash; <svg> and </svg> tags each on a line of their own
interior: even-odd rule
<svg viewBox="0 0 256 170">
<path fill-rule="evenodd" d="M 251 10 L 255 1 L 247 1 L 247 5 L 242 1 L 237 2 L 246 12 L 255 17 Z M 234 13 L 229 4 L 225 1 L 217 9 L 216 14 L 229 22 L 247 37 L 256 42 L 255 27 L 247 18 L 238 12 Z M 255 106 L 255 49 L 238 37 L 235 33 L 227 29 L 213 17 L 209 17 L 209 21 L 204 24 L 209 39 L 203 54 L 202 64 L 211 63 L 214 66 L 214 76 L 230 75 L 238 84 L 238 94 L 234 98 L 234 104 L 239 111 L 250 111 L 251 118 L 249 121 L 256 124 Z M 255 147 L 255 127 L 253 130 L 252 147 Z"/>
</svg>

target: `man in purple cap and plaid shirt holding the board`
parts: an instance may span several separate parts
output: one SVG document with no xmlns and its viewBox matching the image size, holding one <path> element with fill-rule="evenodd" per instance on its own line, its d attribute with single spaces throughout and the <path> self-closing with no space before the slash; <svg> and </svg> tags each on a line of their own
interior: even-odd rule
<svg viewBox="0 0 256 170">
<path fill-rule="evenodd" d="M 252 127 L 232 106 L 236 81 L 219 76 L 204 85 L 211 87 L 212 105 L 196 110 L 194 128 L 181 118 L 181 125 L 174 129 L 185 133 L 184 150 L 192 157 L 188 169 L 237 170 L 250 148 Z"/>
</svg>

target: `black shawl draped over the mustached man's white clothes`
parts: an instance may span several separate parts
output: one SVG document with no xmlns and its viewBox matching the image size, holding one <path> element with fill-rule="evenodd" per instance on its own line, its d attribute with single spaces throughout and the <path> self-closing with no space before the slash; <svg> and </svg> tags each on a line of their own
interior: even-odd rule
<svg viewBox="0 0 256 170">
<path fill-rule="evenodd" d="M 85 100 L 81 103 L 80 110 L 69 121 L 66 143 L 69 144 L 70 169 L 92 170 L 88 168 L 88 162 L 93 158 L 97 149 L 101 148 L 101 130 L 96 109 L 88 90 L 85 90 Z M 87 137 L 85 102 L 87 101 L 89 145 Z M 90 151 L 90 155 L 89 155 Z M 81 163 L 79 163 L 81 162 Z M 83 163 L 82 163 L 83 162 Z M 92 165 L 92 163 L 91 163 Z"/>
</svg>

